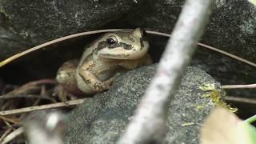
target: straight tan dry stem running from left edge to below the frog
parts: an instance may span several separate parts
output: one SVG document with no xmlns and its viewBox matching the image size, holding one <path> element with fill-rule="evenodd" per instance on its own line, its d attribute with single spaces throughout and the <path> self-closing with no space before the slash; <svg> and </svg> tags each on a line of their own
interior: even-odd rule
<svg viewBox="0 0 256 144">
<path fill-rule="evenodd" d="M 34 110 L 46 110 L 46 109 L 52 109 L 57 107 L 74 106 L 74 105 L 81 104 L 82 102 L 85 102 L 85 101 L 86 101 L 86 98 L 80 98 L 76 100 L 67 101 L 65 103 L 58 102 L 58 103 L 53 103 L 48 105 L 30 106 L 30 107 L 25 107 L 21 109 L 15 109 L 15 110 L 5 110 L 5 111 L 0 111 L 0 115 L 22 114 L 22 113 L 31 112 Z"/>
</svg>

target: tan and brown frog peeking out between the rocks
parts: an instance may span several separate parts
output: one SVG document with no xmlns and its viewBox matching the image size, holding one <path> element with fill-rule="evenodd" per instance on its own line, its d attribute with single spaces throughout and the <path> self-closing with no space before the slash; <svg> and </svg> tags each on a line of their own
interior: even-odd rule
<svg viewBox="0 0 256 144">
<path fill-rule="evenodd" d="M 151 64 L 149 42 L 145 31 L 119 30 L 103 34 L 86 46 L 82 58 L 64 62 L 58 69 L 58 97 L 66 102 L 66 95 L 91 95 L 109 90 L 114 75 Z"/>
</svg>

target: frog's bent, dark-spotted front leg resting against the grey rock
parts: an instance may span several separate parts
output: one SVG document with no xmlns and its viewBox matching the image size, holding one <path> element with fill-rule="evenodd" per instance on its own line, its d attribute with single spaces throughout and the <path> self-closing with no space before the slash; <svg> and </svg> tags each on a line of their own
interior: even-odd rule
<svg viewBox="0 0 256 144">
<path fill-rule="evenodd" d="M 78 69 L 78 77 L 80 77 L 79 79 L 82 79 L 82 81 L 85 82 L 86 85 L 80 85 L 79 80 L 78 87 L 85 93 L 89 94 L 110 89 L 111 84 L 114 82 L 114 78 L 109 78 L 106 81 L 102 82 L 100 79 L 97 78 L 94 73 L 91 72 L 90 68 L 93 66 L 94 63 L 92 61 L 80 66 L 80 68 Z M 89 86 L 90 89 L 88 89 L 88 87 L 86 86 Z"/>
</svg>

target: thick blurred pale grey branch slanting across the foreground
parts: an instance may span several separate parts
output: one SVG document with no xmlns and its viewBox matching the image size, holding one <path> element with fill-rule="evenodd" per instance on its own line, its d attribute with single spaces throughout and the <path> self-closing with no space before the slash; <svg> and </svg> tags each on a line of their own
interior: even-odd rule
<svg viewBox="0 0 256 144">
<path fill-rule="evenodd" d="M 168 103 L 201 38 L 214 0 L 187 0 L 158 70 L 118 144 L 162 143 Z"/>
</svg>

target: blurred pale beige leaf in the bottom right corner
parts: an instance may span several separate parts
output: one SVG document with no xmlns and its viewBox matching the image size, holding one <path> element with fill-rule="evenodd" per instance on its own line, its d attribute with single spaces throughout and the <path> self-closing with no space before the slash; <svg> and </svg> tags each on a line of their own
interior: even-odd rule
<svg viewBox="0 0 256 144">
<path fill-rule="evenodd" d="M 253 144 L 256 129 L 243 122 L 230 110 L 214 109 L 206 118 L 200 135 L 201 144 Z"/>
</svg>

